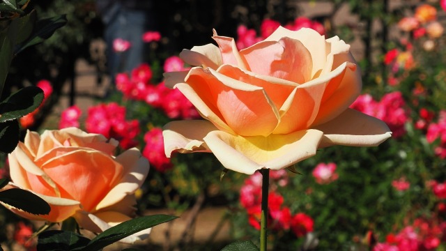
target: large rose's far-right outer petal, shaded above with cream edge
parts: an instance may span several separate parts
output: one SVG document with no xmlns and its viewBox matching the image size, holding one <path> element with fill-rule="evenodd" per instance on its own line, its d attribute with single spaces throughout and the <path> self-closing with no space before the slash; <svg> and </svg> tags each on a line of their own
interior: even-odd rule
<svg viewBox="0 0 446 251">
<path fill-rule="evenodd" d="M 392 132 L 383 121 L 350 108 L 332 121 L 316 126 L 315 129 L 323 131 L 321 147 L 378 146 L 392 136 Z"/>
</svg>

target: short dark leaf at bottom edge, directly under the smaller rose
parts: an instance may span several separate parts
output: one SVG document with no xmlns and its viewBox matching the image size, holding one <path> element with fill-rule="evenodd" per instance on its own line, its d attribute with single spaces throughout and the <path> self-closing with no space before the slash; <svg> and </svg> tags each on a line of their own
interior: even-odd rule
<svg viewBox="0 0 446 251">
<path fill-rule="evenodd" d="M 39 234 L 37 250 L 82 250 L 89 242 L 89 238 L 72 231 L 49 230 Z"/>
</svg>

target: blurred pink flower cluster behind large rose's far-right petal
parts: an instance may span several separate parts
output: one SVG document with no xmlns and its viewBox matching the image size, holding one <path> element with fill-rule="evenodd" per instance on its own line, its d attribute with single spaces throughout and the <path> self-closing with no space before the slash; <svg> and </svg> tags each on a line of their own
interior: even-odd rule
<svg viewBox="0 0 446 251">
<path fill-rule="evenodd" d="M 408 121 L 408 112 L 406 102 L 399 91 L 385 94 L 379 102 L 369 94 L 364 94 L 359 96 L 350 107 L 383 120 L 392 130 L 393 137 L 401 137 L 406 132 L 404 124 Z"/>
</svg>

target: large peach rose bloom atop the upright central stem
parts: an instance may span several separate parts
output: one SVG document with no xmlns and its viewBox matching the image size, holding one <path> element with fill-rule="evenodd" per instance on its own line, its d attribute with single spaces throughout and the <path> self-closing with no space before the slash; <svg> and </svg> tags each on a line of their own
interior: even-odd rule
<svg viewBox="0 0 446 251">
<path fill-rule="evenodd" d="M 374 117 L 349 109 L 362 88 L 350 46 L 312 29 L 280 26 L 266 40 L 238 51 L 233 38 L 183 50 L 192 66 L 165 73 L 206 120 L 164 126 L 164 149 L 212 152 L 224 167 L 253 174 L 283 169 L 341 144 L 376 146 L 391 136 Z"/>
</svg>

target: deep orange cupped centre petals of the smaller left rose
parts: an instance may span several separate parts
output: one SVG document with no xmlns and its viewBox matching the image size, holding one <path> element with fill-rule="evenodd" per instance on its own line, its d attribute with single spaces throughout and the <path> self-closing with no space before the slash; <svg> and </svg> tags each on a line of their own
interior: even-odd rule
<svg viewBox="0 0 446 251">
<path fill-rule="evenodd" d="M 81 201 L 84 210 L 91 211 L 121 179 L 123 167 L 106 153 L 73 151 L 59 155 L 42 165 L 61 190 L 61 197 Z M 30 182 L 31 183 L 31 182 Z M 41 183 L 31 183 L 33 191 Z"/>
</svg>

